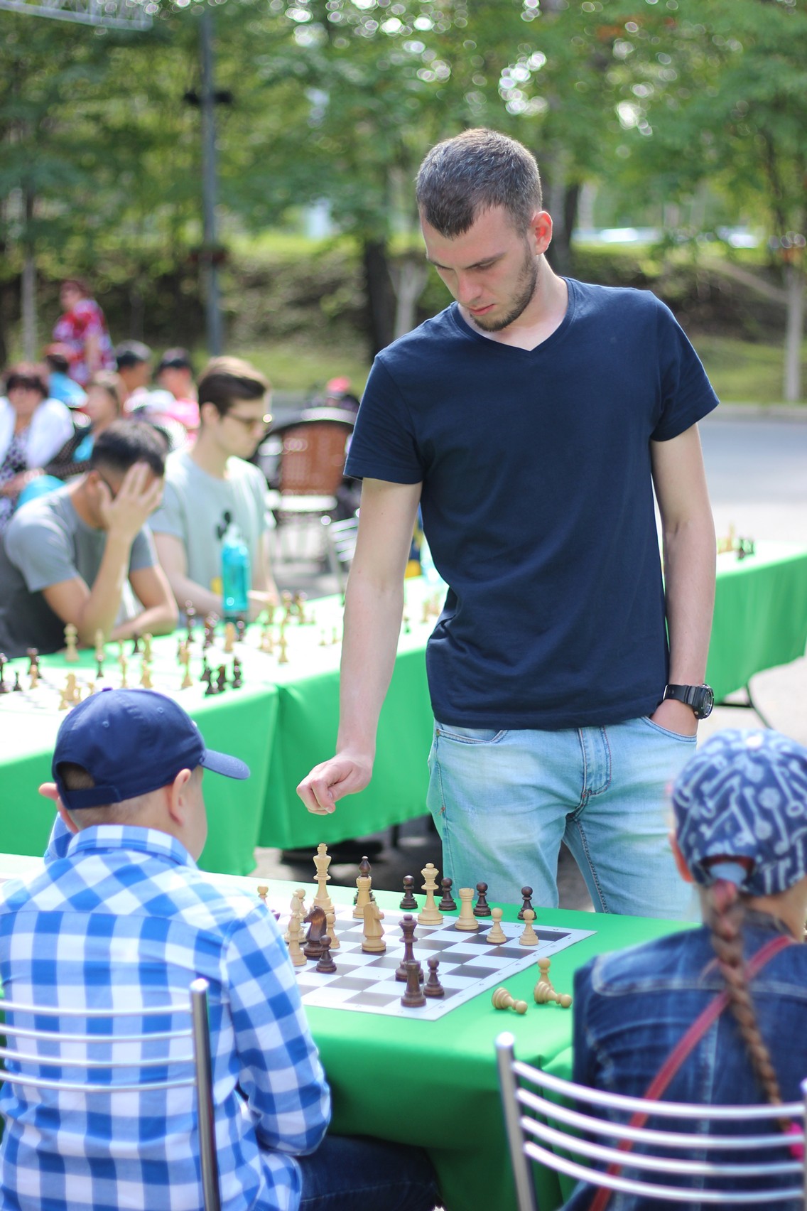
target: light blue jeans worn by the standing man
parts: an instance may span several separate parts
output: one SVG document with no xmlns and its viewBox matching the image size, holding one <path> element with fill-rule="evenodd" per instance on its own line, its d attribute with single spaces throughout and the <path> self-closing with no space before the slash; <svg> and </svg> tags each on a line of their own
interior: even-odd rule
<svg viewBox="0 0 807 1211">
<path fill-rule="evenodd" d="M 436 723 L 428 809 L 456 888 L 492 902 L 558 906 L 558 853 L 571 850 L 598 912 L 692 916 L 673 861 L 669 787 L 694 752 L 647 718 L 606 728 L 494 731 Z"/>
</svg>

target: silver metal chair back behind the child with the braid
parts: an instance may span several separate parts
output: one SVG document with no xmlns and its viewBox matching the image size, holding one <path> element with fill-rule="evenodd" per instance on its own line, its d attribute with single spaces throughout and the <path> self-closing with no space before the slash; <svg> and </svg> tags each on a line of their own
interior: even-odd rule
<svg viewBox="0 0 807 1211">
<path fill-rule="evenodd" d="M 565 1173 L 577 1181 L 588 1182 L 590 1186 L 606 1187 L 611 1190 L 669 1203 L 691 1204 L 694 1199 L 705 1205 L 722 1204 L 726 1206 L 728 1205 L 728 1195 L 731 1195 L 731 1206 L 760 1204 L 767 1206 L 784 1203 L 788 1199 L 807 1198 L 807 1166 L 803 1160 L 765 1161 L 762 1159 L 744 1160 L 739 1164 L 726 1160 L 675 1160 L 669 1155 L 657 1155 L 652 1152 L 639 1154 L 621 1150 L 624 1147 L 623 1141 L 642 1143 L 651 1148 L 692 1149 L 707 1154 L 720 1148 L 724 1152 L 742 1153 L 744 1158 L 763 1154 L 773 1148 L 780 1152 L 783 1147 L 786 1148 L 791 1144 L 801 1146 L 803 1150 L 807 1080 L 801 1086 L 803 1100 L 784 1106 L 771 1106 L 769 1103 L 759 1106 L 693 1106 L 684 1102 L 651 1102 L 642 1097 L 624 1097 L 619 1094 L 588 1089 L 560 1077 L 553 1077 L 532 1064 L 517 1060 L 514 1045 L 515 1040 L 509 1032 L 500 1034 L 496 1039 L 498 1081 L 515 1181 L 518 1211 L 537 1211 L 530 1161 L 537 1161 L 547 1169 Z M 544 1096 L 547 1092 L 563 1097 L 572 1106 L 549 1101 Z M 584 1106 L 623 1112 L 628 1117 L 640 1112 L 657 1118 L 696 1119 L 716 1124 L 721 1121 L 759 1124 L 761 1120 L 771 1121 L 784 1117 L 800 1120 L 802 1130 L 785 1137 L 778 1131 L 766 1135 L 721 1136 L 685 1133 L 675 1131 L 673 1127 L 670 1130 L 632 1127 L 627 1123 L 613 1123 L 598 1118 L 587 1110 L 575 1109 L 573 1103 L 578 1102 Z M 552 1126 L 552 1123 L 560 1126 Z M 564 1127 L 581 1131 L 583 1137 L 570 1135 Z M 621 1147 L 596 1143 L 587 1136 L 610 1137 L 617 1141 Z M 554 1148 L 581 1157 L 582 1160 L 570 1160 L 554 1152 Z M 619 1172 L 610 1173 L 603 1169 L 595 1169 L 596 1161 L 618 1165 Z M 623 1177 L 622 1169 L 640 1171 L 640 1176 Z M 650 1175 L 649 1178 L 645 1178 L 645 1171 Z M 663 1181 L 658 1181 L 659 1175 L 711 1180 L 737 1178 L 738 1181 L 749 1177 L 794 1175 L 797 1184 L 778 1190 L 709 1189 L 708 1186 L 701 1189 L 664 1184 Z"/>
</svg>

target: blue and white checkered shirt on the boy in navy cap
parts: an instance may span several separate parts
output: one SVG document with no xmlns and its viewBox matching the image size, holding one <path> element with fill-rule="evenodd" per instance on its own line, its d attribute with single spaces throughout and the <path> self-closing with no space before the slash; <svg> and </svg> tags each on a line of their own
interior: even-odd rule
<svg viewBox="0 0 807 1211">
<path fill-rule="evenodd" d="M 203 976 L 223 1207 L 295 1211 L 293 1158 L 322 1140 L 330 1094 L 271 912 L 240 890 L 225 895 L 179 842 L 150 828 L 91 827 L 65 846 L 57 827 L 47 856 L 44 873 L 0 897 L 6 997 L 131 1008 L 133 1020 L 115 1021 L 132 1033 L 156 1021 L 138 1006 L 186 1005 Z M 75 1033 L 93 1028 L 65 1021 Z M 192 1090 L 85 1100 L 6 1084 L 0 1107 L 5 1211 L 200 1211 Z"/>
</svg>

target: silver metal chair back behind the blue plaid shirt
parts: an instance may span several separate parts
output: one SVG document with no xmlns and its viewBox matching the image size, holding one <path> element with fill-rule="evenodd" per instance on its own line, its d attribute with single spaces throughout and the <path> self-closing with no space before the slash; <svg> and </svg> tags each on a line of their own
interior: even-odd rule
<svg viewBox="0 0 807 1211">
<path fill-rule="evenodd" d="M 93 1020 L 114 1020 L 117 1017 L 155 1017 L 155 1016 L 184 1016 L 190 1018 L 190 1025 L 171 1031 L 144 1031 L 136 1034 L 70 1034 L 64 1031 L 46 1031 L 30 1027 L 10 1026 L 7 1022 L 0 1023 L 0 1034 L 11 1035 L 16 1039 L 31 1039 L 34 1041 L 47 1043 L 83 1043 L 87 1046 L 103 1044 L 104 1046 L 119 1043 L 151 1043 L 155 1040 L 190 1039 L 191 1051 L 188 1055 L 160 1057 L 157 1060 L 71 1060 L 62 1055 L 34 1055 L 31 1052 L 18 1051 L 12 1048 L 0 1048 L 0 1079 L 10 1085 L 22 1085 L 31 1089 L 51 1089 L 69 1094 L 125 1094 L 146 1092 L 156 1089 L 195 1089 L 196 1090 L 196 1114 L 200 1141 L 200 1165 L 202 1172 L 202 1195 L 204 1211 L 221 1211 L 221 1195 L 219 1190 L 219 1166 L 215 1154 L 215 1118 L 213 1107 L 213 1078 L 211 1064 L 211 1034 L 207 1008 L 207 980 L 194 980 L 190 986 L 190 1003 L 146 1006 L 142 1009 L 63 1009 L 54 1005 L 24 1005 L 21 1001 L 0 1000 L 0 1011 L 4 1015 L 10 1012 L 34 1014 L 40 1017 L 77 1017 Z M 139 1080 L 133 1084 L 99 1084 L 93 1080 L 76 1081 L 50 1079 L 47 1077 L 29 1077 L 24 1072 L 8 1072 L 5 1062 L 11 1060 L 21 1066 L 34 1066 L 41 1068 L 48 1064 L 57 1064 L 63 1068 L 81 1068 L 92 1072 L 96 1068 L 106 1071 L 114 1068 L 190 1068 L 188 1075 L 174 1077 L 167 1080 Z"/>
</svg>

